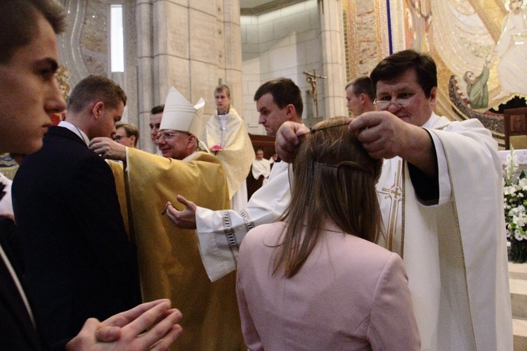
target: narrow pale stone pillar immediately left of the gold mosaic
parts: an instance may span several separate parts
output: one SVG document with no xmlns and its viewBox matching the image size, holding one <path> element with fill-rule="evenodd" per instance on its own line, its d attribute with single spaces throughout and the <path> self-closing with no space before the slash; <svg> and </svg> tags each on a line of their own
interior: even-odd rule
<svg viewBox="0 0 527 351">
<path fill-rule="evenodd" d="M 318 0 L 322 33 L 324 117 L 347 116 L 346 61 L 341 0 Z"/>
</svg>

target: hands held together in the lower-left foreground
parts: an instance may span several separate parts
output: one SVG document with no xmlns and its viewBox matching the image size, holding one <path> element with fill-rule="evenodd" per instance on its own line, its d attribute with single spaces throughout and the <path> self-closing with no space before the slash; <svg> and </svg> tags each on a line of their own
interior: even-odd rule
<svg viewBox="0 0 527 351">
<path fill-rule="evenodd" d="M 102 322 L 88 319 L 66 349 L 167 350 L 181 335 L 181 317 L 178 309 L 170 309 L 170 300 L 146 302 Z"/>
</svg>

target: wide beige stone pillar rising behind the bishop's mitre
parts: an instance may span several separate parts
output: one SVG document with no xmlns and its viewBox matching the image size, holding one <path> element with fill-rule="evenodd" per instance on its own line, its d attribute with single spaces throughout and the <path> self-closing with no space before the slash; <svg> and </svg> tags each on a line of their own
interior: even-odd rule
<svg viewBox="0 0 527 351">
<path fill-rule="evenodd" d="M 241 106 L 240 4 L 238 0 L 216 0 L 215 4 L 211 6 L 210 0 L 153 1 L 155 101 L 164 101 L 174 85 L 191 103 L 204 98 L 204 113 L 212 115 L 214 88 L 222 79 Z"/>
</svg>

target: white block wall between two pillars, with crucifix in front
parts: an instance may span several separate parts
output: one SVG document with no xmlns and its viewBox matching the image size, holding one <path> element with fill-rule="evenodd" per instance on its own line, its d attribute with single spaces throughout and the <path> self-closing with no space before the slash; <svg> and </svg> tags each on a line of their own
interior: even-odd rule
<svg viewBox="0 0 527 351">
<path fill-rule="evenodd" d="M 304 70 L 323 70 L 320 16 L 317 1 L 309 0 L 261 15 L 242 15 L 243 114 L 249 133 L 265 134 L 258 125 L 256 89 L 269 79 L 287 77 L 299 86 L 304 120 L 313 120 L 313 98 Z M 323 84 L 318 84 L 318 110 L 323 111 Z"/>
</svg>

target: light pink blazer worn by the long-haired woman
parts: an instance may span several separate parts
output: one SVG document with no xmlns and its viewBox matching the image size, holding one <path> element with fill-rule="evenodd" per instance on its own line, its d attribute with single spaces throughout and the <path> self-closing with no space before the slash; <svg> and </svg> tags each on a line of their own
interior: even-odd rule
<svg viewBox="0 0 527 351">
<path fill-rule="evenodd" d="M 238 305 L 250 350 L 419 350 L 401 257 L 325 231 L 300 271 L 285 279 L 282 270 L 271 274 L 282 227 L 257 226 L 240 247 Z"/>
</svg>

